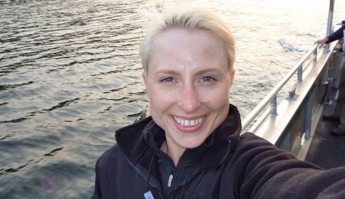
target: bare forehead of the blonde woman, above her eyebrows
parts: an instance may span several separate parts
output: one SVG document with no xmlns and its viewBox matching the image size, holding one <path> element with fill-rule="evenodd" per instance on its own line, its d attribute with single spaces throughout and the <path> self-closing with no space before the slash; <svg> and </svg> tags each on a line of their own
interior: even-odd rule
<svg viewBox="0 0 345 199">
<path fill-rule="evenodd" d="M 158 34 L 152 43 L 149 70 L 157 67 L 221 65 L 228 69 L 221 39 L 208 30 L 173 28 Z"/>
</svg>

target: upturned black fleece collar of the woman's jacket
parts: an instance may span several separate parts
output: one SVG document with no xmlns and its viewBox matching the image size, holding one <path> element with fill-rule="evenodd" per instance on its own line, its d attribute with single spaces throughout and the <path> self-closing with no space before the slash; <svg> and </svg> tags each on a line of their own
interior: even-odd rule
<svg viewBox="0 0 345 199">
<path fill-rule="evenodd" d="M 139 163 L 140 167 L 146 169 L 150 167 L 149 159 L 155 153 L 145 142 L 143 131 L 148 128 L 161 129 L 150 116 L 137 123 L 118 129 L 115 134 L 117 145 L 127 159 L 132 164 L 137 165 Z M 212 133 L 214 134 L 212 135 L 214 136 L 213 144 L 205 152 L 200 169 L 210 169 L 222 163 L 226 154 L 236 145 L 241 128 L 240 114 L 237 108 L 230 104 L 226 120 Z M 155 140 L 164 140 L 164 131 L 161 129 L 157 132 L 153 133 Z M 228 148 L 229 143 L 231 144 L 230 148 Z"/>
</svg>

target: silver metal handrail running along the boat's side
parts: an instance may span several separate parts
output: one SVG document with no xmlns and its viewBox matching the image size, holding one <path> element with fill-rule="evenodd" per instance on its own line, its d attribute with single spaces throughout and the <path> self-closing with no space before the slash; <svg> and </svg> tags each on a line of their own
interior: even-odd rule
<svg viewBox="0 0 345 199">
<path fill-rule="evenodd" d="M 308 51 L 301 59 L 300 61 L 295 65 L 295 67 L 274 87 L 271 92 L 260 101 L 259 104 L 256 105 L 256 107 L 253 109 L 253 111 L 244 118 L 242 122 L 242 133 L 246 132 L 246 129 L 250 124 L 253 123 L 254 119 L 261 113 L 261 111 L 267 106 L 268 103 L 270 103 L 270 107 L 263 113 L 263 115 L 260 117 L 259 120 L 256 121 L 255 124 L 253 124 L 252 128 L 249 130 L 250 132 L 255 132 L 256 129 L 265 121 L 265 119 L 268 117 L 269 114 L 271 114 L 271 117 L 275 117 L 276 112 L 276 94 L 281 90 L 281 88 L 290 80 L 290 78 L 298 71 L 298 82 L 302 81 L 302 72 L 303 63 L 308 60 L 313 54 L 313 56 L 309 59 L 309 61 L 305 64 L 305 66 L 308 66 L 311 61 L 316 62 L 317 58 L 317 51 L 319 44 L 314 45 L 314 47 Z"/>
</svg>

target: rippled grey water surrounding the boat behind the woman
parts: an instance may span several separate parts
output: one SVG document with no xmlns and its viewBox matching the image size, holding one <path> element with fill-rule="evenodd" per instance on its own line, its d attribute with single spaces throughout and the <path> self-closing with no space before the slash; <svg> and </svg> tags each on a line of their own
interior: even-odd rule
<svg viewBox="0 0 345 199">
<path fill-rule="evenodd" d="M 148 1 L 0 0 L 0 198 L 91 197 L 115 130 L 144 117 L 136 9 Z M 233 31 L 242 117 L 325 35 L 323 0 L 200 2 Z"/>
</svg>

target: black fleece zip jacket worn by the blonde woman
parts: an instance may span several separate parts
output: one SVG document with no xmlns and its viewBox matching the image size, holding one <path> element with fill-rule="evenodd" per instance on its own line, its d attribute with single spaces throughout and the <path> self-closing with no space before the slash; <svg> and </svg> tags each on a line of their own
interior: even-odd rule
<svg viewBox="0 0 345 199">
<path fill-rule="evenodd" d="M 230 105 L 228 117 L 205 143 L 185 150 L 180 162 L 194 153 L 203 156 L 193 159 L 187 172 L 179 162 L 174 175 L 189 174 L 176 183 L 173 178 L 164 193 L 159 168 L 164 157 L 150 147 L 160 147 L 164 131 L 151 117 L 123 127 L 116 131 L 117 144 L 97 160 L 92 198 L 144 199 L 147 192 L 154 199 L 345 198 L 345 168 L 324 171 L 252 133 L 239 136 L 240 131 L 239 113 Z"/>
</svg>

